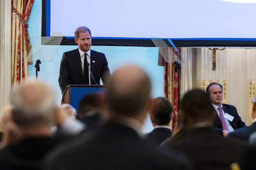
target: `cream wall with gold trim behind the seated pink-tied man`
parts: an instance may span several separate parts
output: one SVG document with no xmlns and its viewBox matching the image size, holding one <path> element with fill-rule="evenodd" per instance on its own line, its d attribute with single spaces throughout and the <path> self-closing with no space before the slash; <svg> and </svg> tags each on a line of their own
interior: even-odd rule
<svg viewBox="0 0 256 170">
<path fill-rule="evenodd" d="M 185 63 L 181 64 L 181 97 L 192 88 L 203 89 L 202 80 L 205 80 L 205 87 L 209 80 L 220 84 L 226 80 L 226 103 L 234 105 L 238 114 L 250 125 L 250 109 L 248 105 L 248 84 L 249 78 L 255 84 L 255 49 L 226 48 L 216 50 L 216 70 L 212 70 L 212 51 L 209 48 L 181 48 L 181 54 Z M 247 78 L 249 77 L 249 78 Z M 192 83 L 191 83 L 192 82 Z"/>
</svg>

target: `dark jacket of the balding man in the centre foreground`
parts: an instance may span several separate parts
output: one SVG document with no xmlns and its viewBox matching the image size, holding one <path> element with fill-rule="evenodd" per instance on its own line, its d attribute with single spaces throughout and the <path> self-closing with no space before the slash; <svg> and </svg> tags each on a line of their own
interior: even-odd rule
<svg viewBox="0 0 256 170">
<path fill-rule="evenodd" d="M 88 139 L 79 141 L 49 154 L 46 169 L 191 169 L 184 155 L 175 150 L 170 157 L 160 154 L 136 131 L 115 122 L 108 122 Z"/>
</svg>

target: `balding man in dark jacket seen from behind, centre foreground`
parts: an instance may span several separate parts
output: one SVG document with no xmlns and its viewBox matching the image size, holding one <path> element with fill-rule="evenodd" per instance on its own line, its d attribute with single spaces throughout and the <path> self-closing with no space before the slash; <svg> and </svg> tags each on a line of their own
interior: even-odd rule
<svg viewBox="0 0 256 170">
<path fill-rule="evenodd" d="M 190 169 L 179 152 L 166 156 L 140 139 L 151 102 L 151 82 L 135 65 L 117 69 L 104 96 L 106 123 L 91 137 L 47 157 L 46 169 Z M 68 160 L 68 161 L 66 161 Z"/>
</svg>

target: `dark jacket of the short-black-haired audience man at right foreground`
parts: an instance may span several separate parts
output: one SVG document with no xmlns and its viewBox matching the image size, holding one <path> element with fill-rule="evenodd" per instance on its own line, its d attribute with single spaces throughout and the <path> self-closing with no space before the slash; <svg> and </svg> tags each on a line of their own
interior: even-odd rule
<svg viewBox="0 0 256 170">
<path fill-rule="evenodd" d="M 220 137 L 211 127 L 192 129 L 175 141 L 168 141 L 160 147 L 174 148 L 188 154 L 196 162 L 196 169 L 230 169 L 237 162 L 244 168 L 250 158 L 247 144 Z M 247 168 L 247 167 L 246 167 Z"/>
</svg>

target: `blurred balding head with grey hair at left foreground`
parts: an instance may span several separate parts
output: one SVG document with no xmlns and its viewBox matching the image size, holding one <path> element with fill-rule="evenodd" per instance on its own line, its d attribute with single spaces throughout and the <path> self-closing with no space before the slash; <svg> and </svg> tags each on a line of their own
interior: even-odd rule
<svg viewBox="0 0 256 170">
<path fill-rule="evenodd" d="M 11 94 L 12 119 L 20 129 L 51 128 L 57 109 L 56 93 L 39 81 L 26 81 L 17 85 Z M 45 130 L 47 131 L 47 130 Z"/>
</svg>

